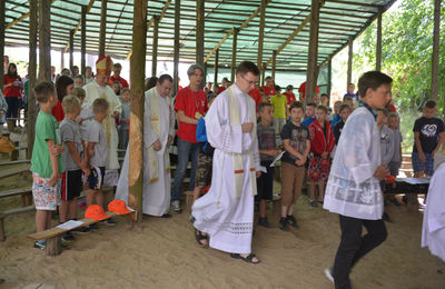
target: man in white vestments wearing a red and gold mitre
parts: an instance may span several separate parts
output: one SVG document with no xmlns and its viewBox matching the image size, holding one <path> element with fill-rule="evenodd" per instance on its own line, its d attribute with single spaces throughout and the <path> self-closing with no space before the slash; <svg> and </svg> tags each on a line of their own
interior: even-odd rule
<svg viewBox="0 0 445 289">
<path fill-rule="evenodd" d="M 112 61 L 110 57 L 101 57 L 96 61 L 95 80 L 83 87 L 86 97 L 85 103 L 88 107 L 98 98 L 105 98 L 109 104 L 109 113 L 102 121 L 105 132 L 107 134 L 107 165 L 103 183 L 107 186 L 117 186 L 119 179 L 119 161 L 118 161 L 118 131 L 116 129 L 116 119 L 122 112 L 122 106 L 115 91 L 107 84 L 111 73 Z"/>
</svg>

